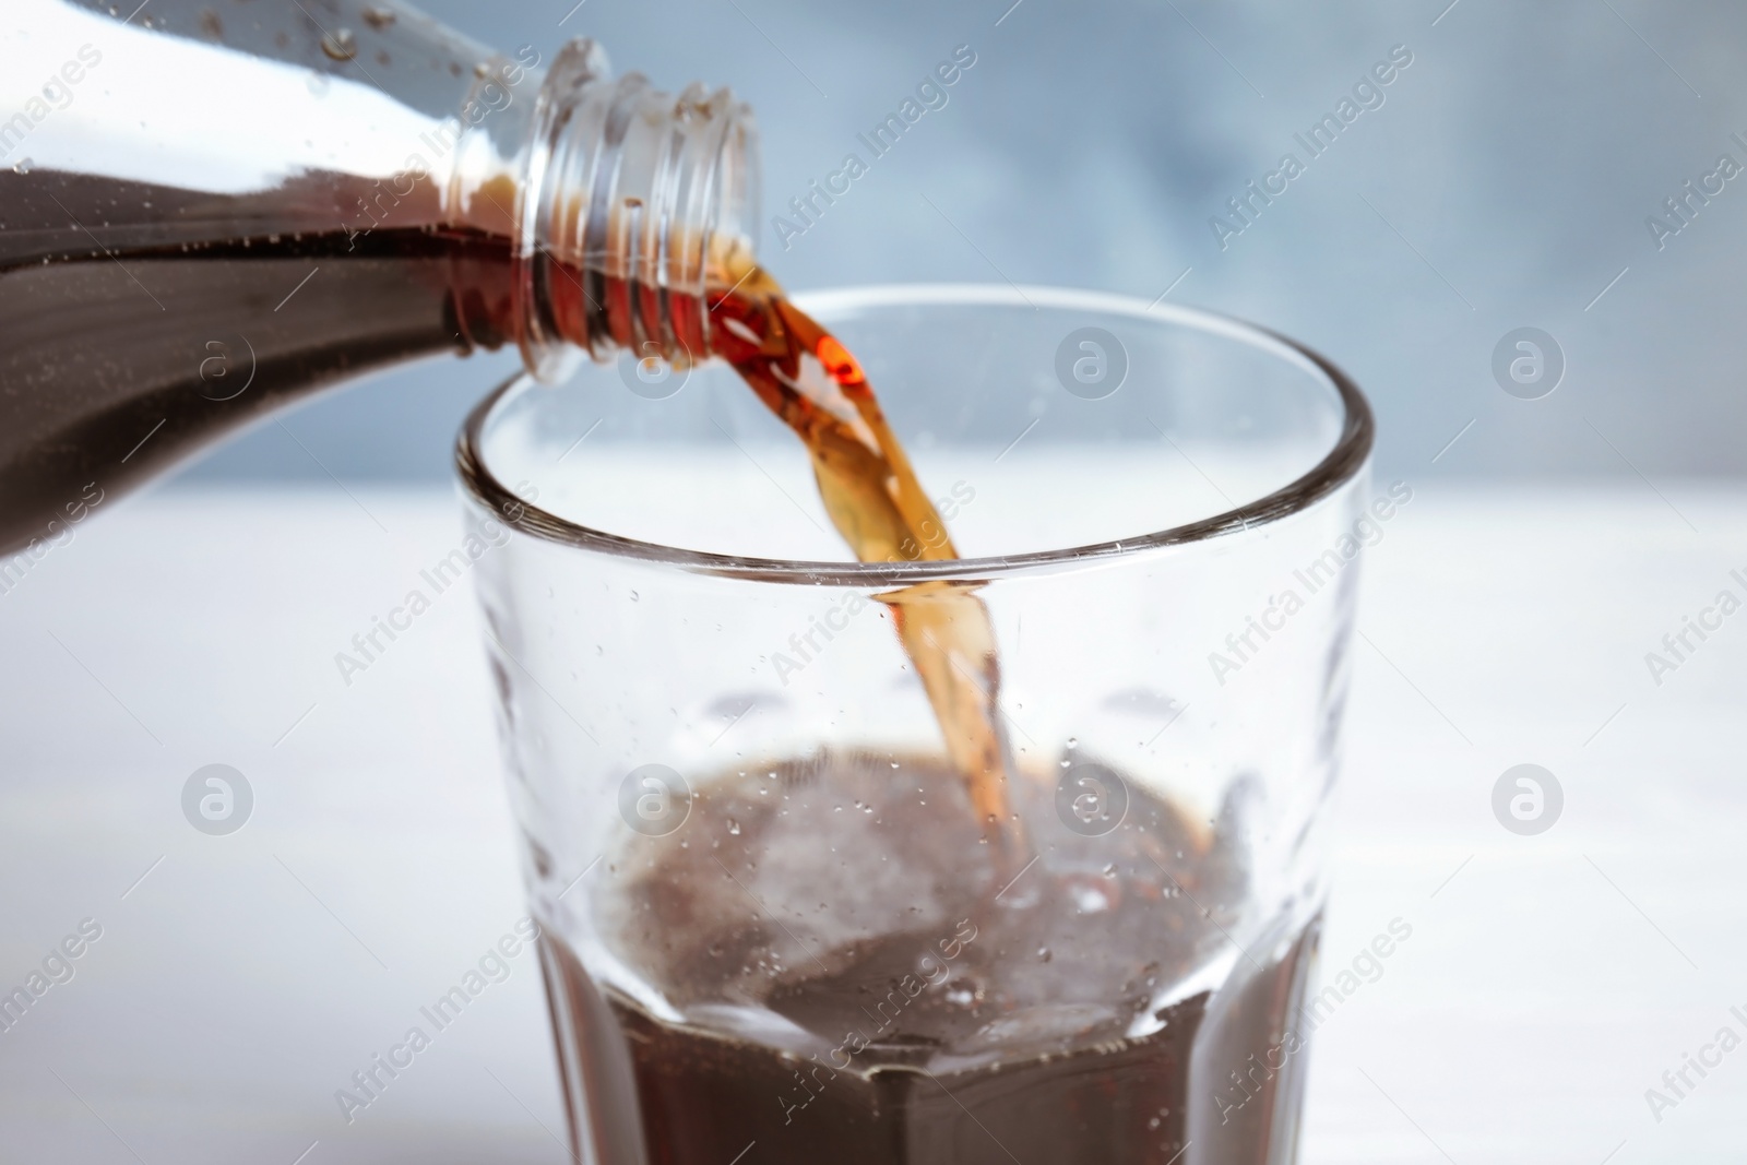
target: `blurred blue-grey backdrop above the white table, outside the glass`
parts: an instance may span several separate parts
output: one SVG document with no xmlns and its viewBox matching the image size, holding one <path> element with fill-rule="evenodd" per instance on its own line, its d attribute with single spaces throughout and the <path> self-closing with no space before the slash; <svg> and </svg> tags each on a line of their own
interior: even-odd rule
<svg viewBox="0 0 1747 1165">
<path fill-rule="evenodd" d="M 767 265 L 791 290 L 1015 281 L 1212 307 L 1295 335 L 1377 407 L 1384 475 L 1733 475 L 1747 194 L 1663 206 L 1747 162 L 1747 9 L 1504 0 L 538 0 L 425 7 L 547 58 L 728 84 L 763 136 Z M 949 103 L 884 157 L 858 141 L 970 45 Z M 1309 131 L 1405 45 L 1412 63 L 1319 157 Z M 1396 49 L 1398 56 L 1403 54 Z M 1326 133 L 1326 131 L 1324 131 Z M 770 220 L 856 152 L 870 171 L 800 236 Z M 1249 225 L 1228 199 L 1305 169 Z M 1279 185 L 1279 180 L 1274 182 Z M 1260 206 L 1253 201 L 1251 206 Z M 1242 225 L 1225 234 L 1223 217 Z M 1646 218 L 1679 234 L 1660 239 Z M 798 220 L 797 220 L 798 222 Z M 1221 234 L 1223 246 L 1221 246 Z M 788 246 L 784 248 L 784 241 Z M 1565 356 L 1518 400 L 1492 374 L 1522 327 Z M 377 376 L 210 454 L 192 480 L 449 475 L 459 417 L 507 356 Z M 1473 426 L 1469 428 L 1469 423 Z M 1452 438 L 1462 433 L 1460 440 Z M 1441 454 L 1441 456 L 1440 456 Z M 1436 463 L 1433 465 L 1433 458 Z"/>
</svg>

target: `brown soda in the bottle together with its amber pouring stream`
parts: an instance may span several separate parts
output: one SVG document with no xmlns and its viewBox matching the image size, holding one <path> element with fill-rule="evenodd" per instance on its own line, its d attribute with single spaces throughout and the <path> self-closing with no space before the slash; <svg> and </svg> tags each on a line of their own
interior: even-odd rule
<svg viewBox="0 0 1747 1165">
<path fill-rule="evenodd" d="M 482 192 L 514 206 L 508 183 Z M 517 297 L 510 239 L 444 227 L 274 232 L 344 197 L 287 183 L 278 203 L 58 171 L 0 178 L 0 550 L 52 538 L 82 498 L 117 494 L 290 398 L 376 367 L 547 332 L 638 348 L 660 316 L 687 351 L 730 362 L 802 438 L 837 529 L 863 561 L 957 557 L 854 356 L 748 255 L 715 264 L 706 302 L 660 297 L 549 253 L 538 306 Z M 957 583 L 884 596 L 971 781 L 978 817 L 1017 859 L 1012 763 L 984 604 Z"/>
</svg>

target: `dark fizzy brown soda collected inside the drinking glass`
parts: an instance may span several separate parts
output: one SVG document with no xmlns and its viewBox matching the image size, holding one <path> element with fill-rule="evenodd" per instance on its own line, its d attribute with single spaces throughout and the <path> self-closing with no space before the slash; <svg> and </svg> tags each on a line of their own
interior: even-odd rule
<svg viewBox="0 0 1747 1165">
<path fill-rule="evenodd" d="M 1130 782 L 1123 823 L 1081 837 L 1032 776 L 1038 861 L 1003 887 L 954 777 L 861 753 L 723 774 L 681 830 L 608 856 L 592 941 L 699 1018 L 547 931 L 582 1160 L 1293 1160 L 1282 1043 L 1315 924 L 1239 955 L 1204 913 L 1244 898 L 1235 810 L 1197 828 Z M 1209 964 L 1233 964 L 1216 989 Z"/>
</svg>

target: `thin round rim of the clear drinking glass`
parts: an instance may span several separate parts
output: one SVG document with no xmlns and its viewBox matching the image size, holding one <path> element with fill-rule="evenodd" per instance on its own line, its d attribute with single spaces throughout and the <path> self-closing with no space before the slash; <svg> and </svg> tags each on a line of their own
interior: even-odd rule
<svg viewBox="0 0 1747 1165">
<path fill-rule="evenodd" d="M 893 283 L 877 286 L 833 288 L 795 295 L 797 306 L 809 314 L 832 314 L 847 307 L 893 306 L 982 306 L 982 307 L 1059 307 L 1067 311 L 1099 311 L 1118 316 L 1144 318 L 1151 323 L 1186 325 L 1198 332 L 1223 335 L 1270 353 L 1288 363 L 1296 363 L 1322 379 L 1340 398 L 1343 417 L 1340 437 L 1333 447 L 1305 473 L 1281 489 L 1247 505 L 1223 510 L 1211 517 L 1184 522 L 1155 533 L 1136 534 L 1115 541 L 1095 541 L 1059 550 L 1031 550 L 980 559 L 935 559 L 915 562 L 842 562 L 760 559 L 708 550 L 685 550 L 655 541 L 641 541 L 622 534 L 590 529 L 510 491 L 486 465 L 482 435 L 491 414 L 512 389 L 531 377 L 517 372 L 473 405 L 456 438 L 454 465 L 466 493 L 487 507 L 500 520 L 515 531 L 580 550 L 594 550 L 622 559 L 638 559 L 655 566 L 673 566 L 697 575 L 744 578 L 751 582 L 784 582 L 839 587 L 907 587 L 931 580 L 982 582 L 989 578 L 1034 573 L 1048 568 L 1092 568 L 1113 559 L 1123 559 L 1148 550 L 1211 541 L 1228 534 L 1256 529 L 1281 519 L 1302 514 L 1322 498 L 1352 480 L 1366 465 L 1375 440 L 1371 405 L 1357 384 L 1331 360 L 1279 332 L 1246 323 L 1198 307 L 1176 304 L 1146 304 L 1129 295 L 1087 292 L 1074 288 L 1020 286 L 998 283 Z"/>
</svg>

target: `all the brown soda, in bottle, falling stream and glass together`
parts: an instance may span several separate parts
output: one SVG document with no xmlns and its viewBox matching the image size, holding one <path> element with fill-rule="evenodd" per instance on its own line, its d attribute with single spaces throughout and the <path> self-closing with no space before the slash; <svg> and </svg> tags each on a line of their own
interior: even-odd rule
<svg viewBox="0 0 1747 1165">
<path fill-rule="evenodd" d="M 119 493 L 321 384 L 498 348 L 522 325 L 519 260 L 501 236 L 213 229 L 199 197 L 52 173 L 9 182 L 0 386 L 14 423 L 0 430 L 0 547 L 79 501 L 68 482 Z M 110 224 L 129 215 L 138 229 Z M 676 334 L 732 363 L 797 433 L 854 555 L 957 557 L 854 356 L 749 259 L 722 267 L 732 278 L 704 302 L 674 307 Z M 536 279 L 543 323 L 578 344 L 604 327 L 636 348 L 629 320 L 659 311 L 645 288 L 550 257 Z M 751 959 L 739 1004 L 784 1027 L 662 1018 L 549 938 L 575 1134 L 613 1165 L 723 1165 L 742 1151 L 744 1165 L 1288 1160 L 1298 1062 L 1258 1078 L 1249 1057 L 1279 1044 L 1314 926 L 1268 957 L 1244 955 L 1218 992 L 1181 994 L 1136 1027 L 1132 1008 L 1151 1008 L 1155 987 L 1226 941 L 1195 903 L 1242 901 L 1239 844 L 1191 828 L 1136 782 L 1111 837 L 1059 828 L 1050 781 L 1020 777 L 1008 748 L 977 583 L 879 597 L 935 709 L 943 760 L 821 755 L 765 769 L 776 776 L 723 776 L 671 844 L 636 838 L 645 851 L 624 858 L 638 872 L 615 873 L 636 879 L 627 900 L 645 913 L 610 933 L 615 954 L 674 1006 L 715 997 L 722 959 Z M 898 865 L 921 880 L 865 900 L 853 940 L 800 920 L 854 919 L 856 894 Z M 772 866 L 786 873 L 763 886 L 758 872 Z M 739 882 L 760 887 L 765 913 L 735 898 Z M 839 894 L 821 891 L 833 884 Z M 784 905 L 793 894 L 811 901 Z M 1099 900 L 1106 906 L 1088 910 Z M 922 901 L 938 919 L 910 917 Z M 961 926 L 977 936 L 964 941 Z M 809 941 L 772 947 L 795 934 Z M 956 959 L 943 959 L 943 941 L 961 945 Z M 931 982 L 924 955 L 954 975 Z M 840 1043 L 849 1029 L 863 1046 Z M 1195 1132 L 1197 1120 L 1211 1123 Z"/>
</svg>

